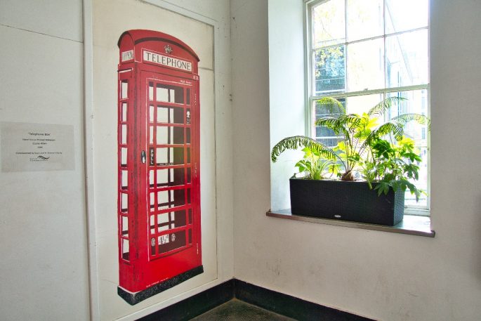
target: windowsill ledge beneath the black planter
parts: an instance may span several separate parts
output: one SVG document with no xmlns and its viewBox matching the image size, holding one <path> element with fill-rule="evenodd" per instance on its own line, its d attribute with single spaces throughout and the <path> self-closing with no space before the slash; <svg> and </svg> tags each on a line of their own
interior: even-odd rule
<svg viewBox="0 0 481 321">
<path fill-rule="evenodd" d="M 364 230 L 378 230 L 381 232 L 401 233 L 409 235 L 418 235 L 425 237 L 434 237 L 436 232 L 431 230 L 431 220 L 428 216 L 414 216 L 404 214 L 401 223 L 394 226 L 376 225 L 367 223 L 357 223 L 349 221 L 337 221 L 327 218 L 315 218 L 309 216 L 292 215 L 290 209 L 282 209 L 279 211 L 268 211 L 267 216 L 286 218 L 288 220 L 303 221 L 318 224 L 344 226 L 345 228 L 361 228 Z"/>
</svg>

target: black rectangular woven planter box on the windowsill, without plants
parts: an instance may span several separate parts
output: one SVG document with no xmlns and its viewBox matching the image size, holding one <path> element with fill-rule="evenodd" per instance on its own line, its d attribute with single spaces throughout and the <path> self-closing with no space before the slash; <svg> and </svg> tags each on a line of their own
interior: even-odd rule
<svg viewBox="0 0 481 321">
<path fill-rule="evenodd" d="M 404 192 L 378 196 L 366 182 L 291 178 L 291 213 L 342 221 L 396 225 L 404 216 Z M 376 183 L 373 183 L 373 188 Z"/>
</svg>

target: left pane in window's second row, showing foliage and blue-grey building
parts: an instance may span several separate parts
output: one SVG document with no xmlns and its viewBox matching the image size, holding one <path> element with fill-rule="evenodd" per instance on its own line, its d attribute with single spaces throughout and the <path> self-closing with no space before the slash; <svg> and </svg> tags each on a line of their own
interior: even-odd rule
<svg viewBox="0 0 481 321">
<path fill-rule="evenodd" d="M 334 46 L 315 51 L 315 93 L 345 91 L 345 46 Z"/>
</svg>

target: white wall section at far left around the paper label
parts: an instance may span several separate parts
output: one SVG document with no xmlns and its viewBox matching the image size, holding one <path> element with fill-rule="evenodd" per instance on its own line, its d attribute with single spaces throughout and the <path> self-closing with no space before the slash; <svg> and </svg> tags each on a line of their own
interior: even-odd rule
<svg viewBox="0 0 481 321">
<path fill-rule="evenodd" d="M 74 170 L 0 173 L 2 320 L 88 320 L 81 1 L 0 1 L 0 122 L 74 127 Z"/>
</svg>

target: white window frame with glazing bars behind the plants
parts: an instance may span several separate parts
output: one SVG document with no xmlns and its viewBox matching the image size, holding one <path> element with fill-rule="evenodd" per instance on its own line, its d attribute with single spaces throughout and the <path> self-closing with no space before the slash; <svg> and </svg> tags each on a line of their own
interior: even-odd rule
<svg viewBox="0 0 481 321">
<path fill-rule="evenodd" d="M 393 92 L 399 92 L 399 91 L 413 91 L 413 90 L 421 90 L 425 89 L 427 92 L 427 106 L 426 106 L 426 111 L 428 114 L 428 117 L 430 116 L 430 59 L 428 59 L 428 83 L 427 84 L 421 84 L 421 85 L 414 85 L 414 86 L 400 86 L 400 87 L 391 87 L 391 88 L 382 88 L 382 89 L 373 89 L 373 90 L 367 90 L 367 91 L 352 91 L 352 92 L 345 92 L 345 93 L 334 93 L 334 94 L 324 94 L 324 95 L 315 95 L 315 84 L 314 84 L 314 77 L 313 77 L 313 64 L 315 63 L 314 61 L 314 55 L 315 51 L 318 50 L 319 48 L 329 48 L 329 46 L 325 47 L 318 47 L 315 48 L 313 46 L 313 37 L 312 37 L 312 8 L 317 6 L 318 4 L 322 4 L 323 2 L 327 2 L 330 0 L 304 0 L 304 5 L 305 5 L 305 11 L 304 11 L 304 39 L 305 39 L 305 84 L 306 89 L 305 89 L 305 105 L 306 105 L 306 111 L 305 111 L 305 119 L 306 119 L 306 133 L 308 136 L 312 138 L 316 138 L 316 133 L 315 133 L 315 126 L 313 126 L 315 122 L 315 107 L 314 107 L 314 102 L 315 100 L 319 100 L 322 97 L 329 96 L 329 97 L 334 97 L 334 98 L 348 98 L 348 97 L 354 97 L 354 96 L 365 96 L 365 95 L 371 95 L 371 94 L 382 94 L 383 98 L 386 98 L 388 93 L 393 93 Z M 345 16 L 347 16 L 347 10 L 348 8 L 348 0 L 345 1 Z M 383 1 L 383 8 L 386 8 L 386 0 Z M 383 9 L 385 10 L 385 9 Z M 383 12 L 384 15 L 384 12 Z M 347 30 L 347 23 L 348 19 L 345 19 L 345 30 Z M 395 36 L 399 34 L 405 34 L 408 32 L 414 32 L 417 30 L 427 30 L 428 31 L 428 57 L 430 58 L 430 48 L 429 48 L 429 29 L 430 29 L 430 21 L 428 17 L 428 26 L 427 27 L 418 27 L 415 29 L 411 30 L 405 30 L 402 32 L 393 32 L 386 34 L 386 22 L 383 24 L 383 34 L 380 36 L 376 37 L 369 37 L 365 39 L 358 39 L 355 41 L 345 41 L 343 43 L 339 44 L 334 44 L 331 46 L 347 46 L 349 44 L 355 44 L 359 43 L 362 41 L 367 41 L 367 40 L 373 40 L 373 39 L 383 39 L 384 41 L 384 52 L 386 53 L 386 37 L 390 36 Z M 348 55 L 345 55 L 345 61 L 346 65 L 348 63 Z M 384 77 L 385 77 L 385 87 L 386 87 L 386 55 L 384 58 Z M 345 72 L 345 88 L 348 88 L 348 74 L 347 70 Z M 331 137 L 330 137 L 331 138 Z M 430 133 L 429 131 L 426 132 L 426 148 L 428 150 L 428 173 L 427 173 L 427 197 L 426 197 L 426 204 L 427 206 L 424 207 L 422 205 L 410 205 L 409 207 L 405 207 L 404 209 L 404 214 L 408 215 L 419 215 L 419 216 L 429 216 L 430 215 Z"/>
</svg>

